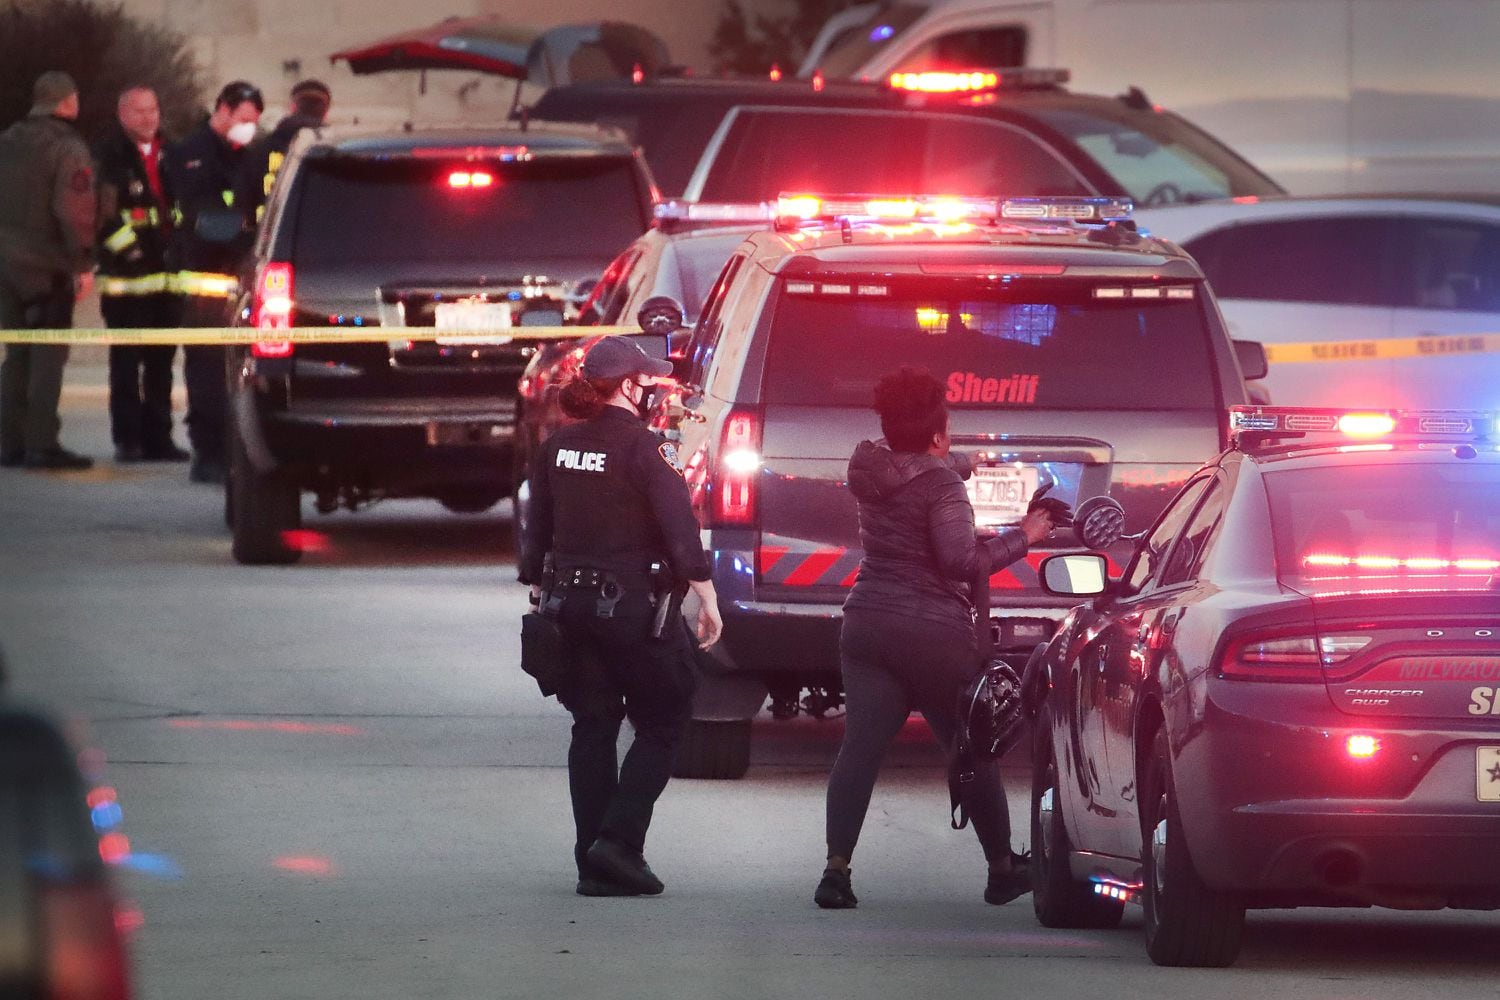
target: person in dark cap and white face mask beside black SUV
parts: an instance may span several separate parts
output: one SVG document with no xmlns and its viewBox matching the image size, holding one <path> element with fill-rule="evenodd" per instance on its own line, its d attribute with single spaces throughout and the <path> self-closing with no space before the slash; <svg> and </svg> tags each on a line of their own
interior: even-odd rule
<svg viewBox="0 0 1500 1000">
<path fill-rule="evenodd" d="M 198 237 L 196 223 L 202 211 L 234 207 L 234 177 L 244 148 L 255 141 L 262 111 L 261 91 L 237 79 L 219 91 L 208 120 L 166 151 L 166 174 L 178 216 L 172 240 L 178 268 L 174 286 L 183 295 L 180 325 L 184 328 L 230 322 L 236 274 L 248 241 L 208 243 Z M 224 483 L 225 478 L 228 391 L 224 364 L 222 346 L 183 348 L 188 441 L 192 445 L 189 478 L 195 483 Z"/>
</svg>

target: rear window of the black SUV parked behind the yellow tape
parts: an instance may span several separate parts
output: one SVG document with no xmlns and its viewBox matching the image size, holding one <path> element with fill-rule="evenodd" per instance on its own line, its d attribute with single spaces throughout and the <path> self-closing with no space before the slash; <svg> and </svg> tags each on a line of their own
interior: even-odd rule
<svg viewBox="0 0 1500 1000">
<path fill-rule="evenodd" d="M 454 174 L 489 183 L 454 186 Z M 630 160 L 310 160 L 297 204 L 300 265 L 608 258 L 646 226 Z"/>
</svg>

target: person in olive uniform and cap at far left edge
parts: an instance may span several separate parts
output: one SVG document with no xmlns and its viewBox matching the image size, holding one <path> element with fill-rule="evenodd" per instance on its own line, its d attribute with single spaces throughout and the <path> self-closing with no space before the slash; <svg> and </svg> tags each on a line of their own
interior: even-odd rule
<svg viewBox="0 0 1500 1000">
<path fill-rule="evenodd" d="M 78 135 L 78 85 L 51 70 L 32 114 L 0 133 L 0 328 L 74 325 L 93 286 L 94 180 Z M 58 444 L 66 343 L 10 343 L 0 363 L 0 466 L 87 469 Z"/>
</svg>

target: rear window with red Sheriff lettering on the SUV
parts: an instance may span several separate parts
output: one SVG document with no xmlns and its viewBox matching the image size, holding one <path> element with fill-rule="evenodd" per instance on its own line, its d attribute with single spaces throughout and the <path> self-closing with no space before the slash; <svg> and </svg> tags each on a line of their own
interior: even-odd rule
<svg viewBox="0 0 1500 1000">
<path fill-rule="evenodd" d="M 783 294 L 768 403 L 868 406 L 903 364 L 936 375 L 952 408 L 1216 408 L 1209 327 L 1191 300 L 1100 300 L 1094 283 L 868 280 L 888 294 Z M 843 276 L 840 276 L 843 280 Z"/>
</svg>

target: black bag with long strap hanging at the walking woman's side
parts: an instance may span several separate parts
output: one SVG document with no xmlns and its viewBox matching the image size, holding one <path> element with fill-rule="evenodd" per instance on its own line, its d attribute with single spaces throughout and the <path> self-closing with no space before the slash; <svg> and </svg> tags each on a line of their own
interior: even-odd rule
<svg viewBox="0 0 1500 1000">
<path fill-rule="evenodd" d="M 950 822 L 956 831 L 969 825 L 969 813 L 963 808 L 963 786 L 974 781 L 980 762 L 1008 754 L 1026 730 L 1022 679 L 1011 664 L 994 655 L 987 559 L 980 559 L 972 598 L 980 663 L 974 678 L 958 693 L 957 753 L 948 766 Z"/>
</svg>

